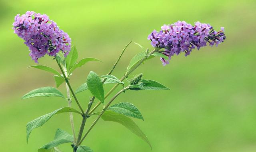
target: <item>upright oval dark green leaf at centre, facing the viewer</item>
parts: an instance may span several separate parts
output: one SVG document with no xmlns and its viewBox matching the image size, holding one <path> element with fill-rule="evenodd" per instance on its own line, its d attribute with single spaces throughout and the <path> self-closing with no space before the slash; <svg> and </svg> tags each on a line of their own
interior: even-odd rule
<svg viewBox="0 0 256 152">
<path fill-rule="evenodd" d="M 100 77 L 91 71 L 87 76 L 86 83 L 92 95 L 104 104 L 104 89 Z"/>
</svg>

